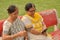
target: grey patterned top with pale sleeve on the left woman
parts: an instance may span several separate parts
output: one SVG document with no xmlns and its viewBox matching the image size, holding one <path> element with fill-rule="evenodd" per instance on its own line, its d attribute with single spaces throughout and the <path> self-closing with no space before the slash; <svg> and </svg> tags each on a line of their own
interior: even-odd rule
<svg viewBox="0 0 60 40">
<path fill-rule="evenodd" d="M 25 30 L 24 24 L 18 18 L 13 23 L 6 20 L 3 24 L 3 34 L 14 35 L 23 30 Z M 24 37 L 17 37 L 13 40 L 24 40 Z"/>
</svg>

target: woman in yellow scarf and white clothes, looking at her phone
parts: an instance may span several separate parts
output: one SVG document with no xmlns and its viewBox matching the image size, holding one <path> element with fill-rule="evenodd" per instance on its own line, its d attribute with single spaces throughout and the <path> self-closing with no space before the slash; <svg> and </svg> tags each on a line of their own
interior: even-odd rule
<svg viewBox="0 0 60 40">
<path fill-rule="evenodd" d="M 42 16 L 35 12 L 35 5 L 27 3 L 25 5 L 25 10 L 26 15 L 23 16 L 22 21 L 28 31 L 29 40 L 48 40 L 45 35 L 42 35 L 42 32 L 46 29 L 46 26 L 43 23 Z"/>
</svg>

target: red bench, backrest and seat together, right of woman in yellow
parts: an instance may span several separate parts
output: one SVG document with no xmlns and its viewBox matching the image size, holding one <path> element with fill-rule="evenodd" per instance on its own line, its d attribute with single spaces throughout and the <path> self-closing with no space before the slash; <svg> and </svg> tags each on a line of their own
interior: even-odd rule
<svg viewBox="0 0 60 40">
<path fill-rule="evenodd" d="M 46 25 L 47 28 L 49 28 L 50 26 L 54 26 L 54 32 L 51 32 L 51 36 L 54 40 L 60 40 L 60 29 L 58 29 L 57 24 L 58 24 L 58 17 L 56 15 L 56 10 L 45 10 L 40 12 L 40 14 L 42 15 L 43 19 L 44 19 L 44 23 Z"/>
</svg>

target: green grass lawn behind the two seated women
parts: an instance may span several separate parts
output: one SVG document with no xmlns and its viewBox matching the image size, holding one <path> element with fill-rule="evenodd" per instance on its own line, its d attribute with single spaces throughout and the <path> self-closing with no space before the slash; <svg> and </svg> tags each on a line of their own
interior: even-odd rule
<svg viewBox="0 0 60 40">
<path fill-rule="evenodd" d="M 47 9 L 56 9 L 58 17 L 60 18 L 60 0 L 0 0 L 0 20 L 8 17 L 7 8 L 9 5 L 16 5 L 19 9 L 19 15 L 24 15 L 24 6 L 26 3 L 34 3 L 37 11 L 43 11 Z M 51 32 L 53 28 L 50 28 L 48 32 Z"/>
</svg>

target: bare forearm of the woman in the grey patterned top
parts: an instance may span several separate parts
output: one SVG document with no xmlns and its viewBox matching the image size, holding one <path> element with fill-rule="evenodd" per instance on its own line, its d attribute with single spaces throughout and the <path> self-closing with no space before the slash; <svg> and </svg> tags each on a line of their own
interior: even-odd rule
<svg viewBox="0 0 60 40">
<path fill-rule="evenodd" d="M 3 34 L 2 39 L 3 40 L 13 40 L 16 37 L 22 37 L 25 35 L 26 35 L 26 31 L 21 31 L 21 32 L 14 34 L 14 35 Z"/>
</svg>

